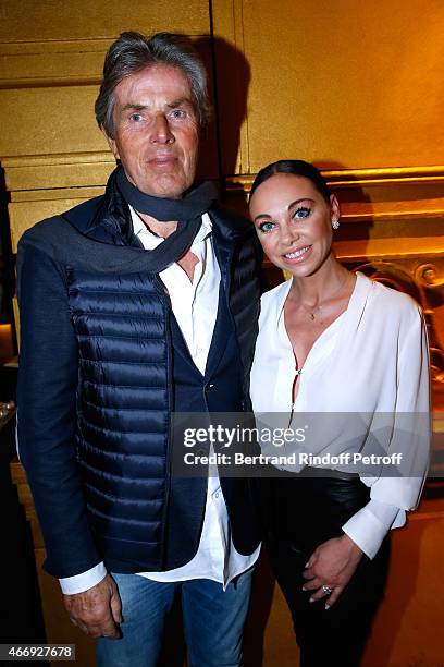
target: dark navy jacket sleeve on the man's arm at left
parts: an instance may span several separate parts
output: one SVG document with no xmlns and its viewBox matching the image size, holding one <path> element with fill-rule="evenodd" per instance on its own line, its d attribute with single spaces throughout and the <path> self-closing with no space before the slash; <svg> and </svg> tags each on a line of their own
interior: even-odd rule
<svg viewBox="0 0 444 667">
<path fill-rule="evenodd" d="M 65 272 L 26 234 L 18 245 L 17 294 L 17 453 L 44 534 L 44 568 L 54 577 L 73 577 L 101 561 L 76 462 L 77 343 Z"/>
</svg>

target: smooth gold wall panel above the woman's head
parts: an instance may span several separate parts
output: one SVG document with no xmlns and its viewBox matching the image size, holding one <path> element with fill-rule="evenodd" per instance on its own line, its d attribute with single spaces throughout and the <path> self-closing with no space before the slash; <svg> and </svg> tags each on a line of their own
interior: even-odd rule
<svg viewBox="0 0 444 667">
<path fill-rule="evenodd" d="M 442 163 L 441 0 L 213 0 L 213 14 L 215 36 L 250 64 L 236 173 L 280 158 L 349 169 Z"/>
</svg>

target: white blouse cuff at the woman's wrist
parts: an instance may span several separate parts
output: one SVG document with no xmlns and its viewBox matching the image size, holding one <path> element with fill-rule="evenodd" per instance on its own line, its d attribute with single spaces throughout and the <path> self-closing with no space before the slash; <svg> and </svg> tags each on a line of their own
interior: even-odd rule
<svg viewBox="0 0 444 667">
<path fill-rule="evenodd" d="M 394 505 L 372 499 L 344 523 L 342 530 L 369 558 L 374 558 L 392 525 L 402 525 L 397 521 L 399 512 L 403 510 Z"/>
</svg>

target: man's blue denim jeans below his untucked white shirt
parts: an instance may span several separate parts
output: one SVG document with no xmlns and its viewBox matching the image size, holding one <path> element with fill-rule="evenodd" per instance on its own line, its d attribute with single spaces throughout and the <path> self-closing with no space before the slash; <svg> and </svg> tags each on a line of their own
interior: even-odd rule
<svg viewBox="0 0 444 667">
<path fill-rule="evenodd" d="M 238 667 L 252 569 L 222 584 L 208 579 L 177 583 L 139 574 L 112 574 L 122 599 L 122 639 L 97 640 L 98 667 L 156 667 L 163 627 L 177 590 L 182 595 L 189 667 Z"/>
</svg>

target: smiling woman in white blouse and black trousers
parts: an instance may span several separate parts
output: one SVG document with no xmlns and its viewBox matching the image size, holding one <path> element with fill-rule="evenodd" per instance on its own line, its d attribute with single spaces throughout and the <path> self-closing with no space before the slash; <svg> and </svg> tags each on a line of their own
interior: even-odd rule
<svg viewBox="0 0 444 667">
<path fill-rule="evenodd" d="M 292 276 L 262 296 L 255 412 L 283 413 L 287 424 L 317 413 L 318 435 L 304 451 L 332 461 L 370 451 L 404 459 L 400 477 L 381 457 L 368 474 L 340 461 L 269 480 L 270 556 L 300 664 L 358 665 L 386 578 L 386 535 L 405 523 L 425 475 L 425 329 L 409 296 L 335 259 L 340 205 L 313 166 L 281 160 L 262 169 L 250 215 L 269 259 Z"/>
</svg>

